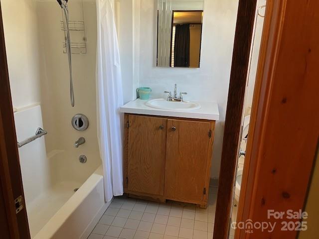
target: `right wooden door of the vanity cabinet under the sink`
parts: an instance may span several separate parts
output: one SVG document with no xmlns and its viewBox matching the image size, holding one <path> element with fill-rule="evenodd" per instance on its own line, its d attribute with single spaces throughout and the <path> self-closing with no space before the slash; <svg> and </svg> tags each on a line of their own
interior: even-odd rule
<svg viewBox="0 0 319 239">
<path fill-rule="evenodd" d="M 184 202 L 203 200 L 210 123 L 167 120 L 165 196 Z"/>
</svg>

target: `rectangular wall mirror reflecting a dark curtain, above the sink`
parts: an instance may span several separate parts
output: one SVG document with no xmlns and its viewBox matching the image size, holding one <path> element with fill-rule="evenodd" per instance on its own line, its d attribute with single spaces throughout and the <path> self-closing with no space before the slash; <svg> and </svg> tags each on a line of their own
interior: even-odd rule
<svg viewBox="0 0 319 239">
<path fill-rule="evenodd" d="M 199 68 L 203 0 L 158 0 L 157 66 Z"/>
</svg>

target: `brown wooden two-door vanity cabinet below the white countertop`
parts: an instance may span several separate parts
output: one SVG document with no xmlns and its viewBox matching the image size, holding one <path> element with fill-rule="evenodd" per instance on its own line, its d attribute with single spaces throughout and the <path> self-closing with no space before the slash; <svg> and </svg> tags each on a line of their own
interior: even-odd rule
<svg viewBox="0 0 319 239">
<path fill-rule="evenodd" d="M 125 114 L 124 190 L 205 207 L 214 120 Z"/>
</svg>

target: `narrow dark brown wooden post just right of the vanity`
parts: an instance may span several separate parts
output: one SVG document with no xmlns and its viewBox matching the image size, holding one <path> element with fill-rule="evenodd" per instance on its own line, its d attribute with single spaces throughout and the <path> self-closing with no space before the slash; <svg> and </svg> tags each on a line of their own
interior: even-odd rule
<svg viewBox="0 0 319 239">
<path fill-rule="evenodd" d="M 257 0 L 239 0 L 217 194 L 214 239 L 226 239 Z"/>
</svg>

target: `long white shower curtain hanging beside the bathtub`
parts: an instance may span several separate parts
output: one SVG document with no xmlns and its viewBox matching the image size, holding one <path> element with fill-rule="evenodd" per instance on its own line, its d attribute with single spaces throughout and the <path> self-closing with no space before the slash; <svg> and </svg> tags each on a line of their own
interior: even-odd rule
<svg viewBox="0 0 319 239">
<path fill-rule="evenodd" d="M 98 140 L 104 171 L 105 200 L 123 194 L 122 76 L 114 0 L 97 0 Z"/>
</svg>

